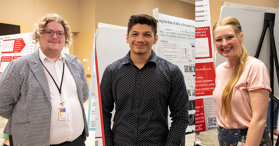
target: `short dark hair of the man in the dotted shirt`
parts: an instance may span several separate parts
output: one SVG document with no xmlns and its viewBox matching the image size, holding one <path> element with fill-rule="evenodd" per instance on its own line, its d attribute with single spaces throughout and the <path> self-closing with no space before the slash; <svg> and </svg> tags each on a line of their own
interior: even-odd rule
<svg viewBox="0 0 279 146">
<path fill-rule="evenodd" d="M 127 34 L 129 36 L 129 33 L 134 25 L 147 24 L 148 26 L 151 27 L 151 29 L 154 33 L 154 37 L 155 37 L 157 34 L 157 23 L 158 23 L 158 20 L 156 20 L 153 16 L 149 16 L 146 14 L 131 15 L 129 22 L 128 22 Z"/>
</svg>

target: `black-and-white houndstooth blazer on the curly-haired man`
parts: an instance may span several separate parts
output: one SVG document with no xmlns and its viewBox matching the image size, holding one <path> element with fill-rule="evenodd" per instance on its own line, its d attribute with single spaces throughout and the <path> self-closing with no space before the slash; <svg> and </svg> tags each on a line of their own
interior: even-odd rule
<svg viewBox="0 0 279 146">
<path fill-rule="evenodd" d="M 84 102 L 89 88 L 85 70 L 76 56 L 64 55 L 77 85 L 88 136 Z M 13 136 L 15 146 L 49 146 L 51 95 L 38 50 L 12 60 L 0 74 L 0 116 L 9 119 L 3 133 Z"/>
</svg>

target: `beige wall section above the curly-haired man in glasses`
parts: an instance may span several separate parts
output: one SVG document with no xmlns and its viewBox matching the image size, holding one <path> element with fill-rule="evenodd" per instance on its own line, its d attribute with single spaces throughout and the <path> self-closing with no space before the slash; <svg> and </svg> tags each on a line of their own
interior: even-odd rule
<svg viewBox="0 0 279 146">
<path fill-rule="evenodd" d="M 11 20 L 12 23 L 29 23 L 31 30 L 30 26 L 24 27 L 24 32 L 32 31 L 33 24 L 49 12 L 60 14 L 70 22 L 73 29 L 80 29 L 79 9 L 79 0 L 0 0 L 1 21 L 3 19 Z"/>
</svg>

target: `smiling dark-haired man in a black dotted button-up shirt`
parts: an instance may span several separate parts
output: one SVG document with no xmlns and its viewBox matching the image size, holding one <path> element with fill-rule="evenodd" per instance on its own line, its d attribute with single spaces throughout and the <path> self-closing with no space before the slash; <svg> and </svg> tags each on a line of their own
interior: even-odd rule
<svg viewBox="0 0 279 146">
<path fill-rule="evenodd" d="M 153 17 L 132 15 L 126 34 L 131 50 L 104 71 L 100 89 L 106 146 L 182 143 L 189 123 L 188 94 L 179 67 L 152 50 L 156 32 Z M 168 107 L 173 121 L 170 130 Z"/>
</svg>

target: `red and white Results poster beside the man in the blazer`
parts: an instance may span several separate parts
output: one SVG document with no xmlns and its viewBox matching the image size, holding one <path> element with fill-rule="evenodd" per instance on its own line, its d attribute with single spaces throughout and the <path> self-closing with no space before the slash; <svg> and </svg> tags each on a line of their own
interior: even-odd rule
<svg viewBox="0 0 279 146">
<path fill-rule="evenodd" d="M 35 50 L 35 44 L 32 42 L 31 36 L 32 33 L 0 36 L 0 73 L 5 70 L 11 60 L 30 54 Z"/>
</svg>

